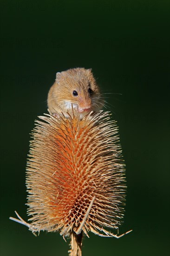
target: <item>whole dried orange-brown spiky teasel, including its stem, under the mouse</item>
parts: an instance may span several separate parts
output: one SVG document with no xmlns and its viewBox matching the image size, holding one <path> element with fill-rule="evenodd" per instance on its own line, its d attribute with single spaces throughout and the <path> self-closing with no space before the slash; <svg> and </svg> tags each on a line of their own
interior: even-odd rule
<svg viewBox="0 0 170 256">
<path fill-rule="evenodd" d="M 83 233 L 120 237 L 108 230 L 122 222 L 126 193 L 118 127 L 110 115 L 92 112 L 80 120 L 74 112 L 69 118 L 45 114 L 32 132 L 26 168 L 31 224 L 17 213 L 19 219 L 10 218 L 33 234 L 69 235 L 71 256 L 81 255 Z"/>
</svg>

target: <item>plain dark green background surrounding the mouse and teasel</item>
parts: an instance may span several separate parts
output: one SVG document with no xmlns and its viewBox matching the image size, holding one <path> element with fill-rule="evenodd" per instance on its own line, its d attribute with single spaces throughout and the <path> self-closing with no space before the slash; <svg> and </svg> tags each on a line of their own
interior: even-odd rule
<svg viewBox="0 0 170 256">
<path fill-rule="evenodd" d="M 169 255 L 169 1 L 1 0 L 1 256 L 66 256 L 27 220 L 29 133 L 58 71 L 92 67 L 118 121 L 128 194 L 120 239 L 90 233 L 84 256 Z M 61 92 L 62 94 L 62 92 Z"/>
</svg>

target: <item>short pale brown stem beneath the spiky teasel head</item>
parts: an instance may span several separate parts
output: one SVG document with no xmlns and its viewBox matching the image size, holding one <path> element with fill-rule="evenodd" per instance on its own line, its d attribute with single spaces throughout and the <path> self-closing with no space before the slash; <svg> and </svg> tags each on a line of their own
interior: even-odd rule
<svg viewBox="0 0 170 256">
<path fill-rule="evenodd" d="M 82 237 L 83 233 L 76 234 L 74 231 L 71 233 L 71 249 L 68 251 L 69 256 L 82 256 L 81 246 L 82 246 Z"/>
</svg>

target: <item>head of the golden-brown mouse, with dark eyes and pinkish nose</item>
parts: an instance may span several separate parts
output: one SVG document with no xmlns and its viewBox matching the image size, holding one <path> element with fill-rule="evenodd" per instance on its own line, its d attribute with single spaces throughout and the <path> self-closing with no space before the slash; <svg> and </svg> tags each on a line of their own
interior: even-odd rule
<svg viewBox="0 0 170 256">
<path fill-rule="evenodd" d="M 59 104 L 63 104 L 64 112 L 76 108 L 80 118 L 91 111 L 102 108 L 100 92 L 92 69 L 72 68 L 56 75 L 56 86 L 59 89 Z"/>
</svg>

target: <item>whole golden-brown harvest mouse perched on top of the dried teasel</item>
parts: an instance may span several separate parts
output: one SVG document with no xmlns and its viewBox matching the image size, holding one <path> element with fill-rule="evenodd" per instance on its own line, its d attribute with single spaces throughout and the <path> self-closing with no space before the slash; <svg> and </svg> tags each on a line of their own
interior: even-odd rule
<svg viewBox="0 0 170 256">
<path fill-rule="evenodd" d="M 92 69 L 83 67 L 56 74 L 56 80 L 48 93 L 47 104 L 53 115 L 63 113 L 65 117 L 68 117 L 67 113 L 73 107 L 79 112 L 80 119 L 91 111 L 98 112 L 104 105 Z"/>
</svg>

